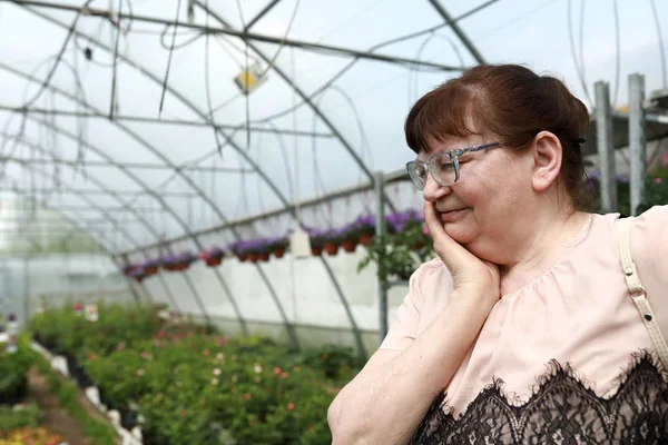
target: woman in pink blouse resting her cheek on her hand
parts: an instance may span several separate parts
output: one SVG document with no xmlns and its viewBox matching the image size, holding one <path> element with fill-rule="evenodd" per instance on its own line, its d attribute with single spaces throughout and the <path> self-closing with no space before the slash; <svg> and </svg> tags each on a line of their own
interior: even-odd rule
<svg viewBox="0 0 668 445">
<path fill-rule="evenodd" d="M 584 105 L 519 66 L 405 135 L 439 258 L 328 412 L 334 444 L 668 443 L 668 206 L 582 211 Z"/>
</svg>

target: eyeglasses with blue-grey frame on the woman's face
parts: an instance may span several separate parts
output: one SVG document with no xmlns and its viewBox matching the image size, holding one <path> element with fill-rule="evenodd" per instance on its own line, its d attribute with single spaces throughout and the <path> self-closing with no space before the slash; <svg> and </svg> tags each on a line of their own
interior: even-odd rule
<svg viewBox="0 0 668 445">
<path fill-rule="evenodd" d="M 424 190 L 428 171 L 431 171 L 432 177 L 441 186 L 452 186 L 460 178 L 460 156 L 466 152 L 488 150 L 501 146 L 502 142 L 493 142 L 483 146 L 439 151 L 430 156 L 425 161 L 412 160 L 407 162 L 406 170 L 409 170 L 409 176 L 418 190 Z"/>
</svg>

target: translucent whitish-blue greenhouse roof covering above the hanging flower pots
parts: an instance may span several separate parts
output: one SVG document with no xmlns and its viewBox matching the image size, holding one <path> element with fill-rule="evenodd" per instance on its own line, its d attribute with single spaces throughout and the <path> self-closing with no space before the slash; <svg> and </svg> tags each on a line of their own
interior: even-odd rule
<svg viewBox="0 0 668 445">
<path fill-rule="evenodd" d="M 81 3 L 0 3 L 0 186 L 114 219 L 114 250 L 402 169 L 412 103 L 477 63 L 550 72 L 589 107 L 598 80 L 616 106 L 630 73 L 668 87 L 659 1 Z"/>
</svg>

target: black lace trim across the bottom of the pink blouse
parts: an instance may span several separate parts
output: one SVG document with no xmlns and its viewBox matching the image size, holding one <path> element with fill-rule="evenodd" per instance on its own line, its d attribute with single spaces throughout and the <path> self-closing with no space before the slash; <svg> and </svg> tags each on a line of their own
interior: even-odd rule
<svg viewBox="0 0 668 445">
<path fill-rule="evenodd" d="M 442 390 L 410 445 L 668 444 L 668 374 L 647 350 L 632 355 L 607 398 L 569 364 L 548 368 L 529 400 L 509 399 L 494 377 L 456 418 Z"/>
</svg>

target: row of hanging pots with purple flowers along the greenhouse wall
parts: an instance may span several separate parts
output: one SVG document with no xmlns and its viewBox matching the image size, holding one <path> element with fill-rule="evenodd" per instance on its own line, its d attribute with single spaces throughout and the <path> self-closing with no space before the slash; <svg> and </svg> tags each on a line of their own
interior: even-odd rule
<svg viewBox="0 0 668 445">
<path fill-rule="evenodd" d="M 387 233 L 397 234 L 404 230 L 407 224 L 422 224 L 423 216 L 414 209 L 393 212 L 385 216 Z M 362 215 L 354 221 L 338 228 L 317 229 L 306 228 L 311 239 L 311 251 L 313 256 L 322 256 L 325 251 L 330 256 L 343 248 L 346 253 L 353 253 L 358 245 L 369 247 L 375 236 L 375 216 Z M 168 271 L 183 271 L 197 260 L 203 260 L 208 267 L 220 265 L 227 255 L 235 256 L 239 261 L 268 261 L 271 256 L 282 258 L 289 245 L 288 236 L 255 238 L 235 241 L 226 248 L 214 247 L 199 255 L 181 253 L 167 255 L 163 258 L 151 258 L 139 264 L 131 264 L 124 268 L 128 277 L 141 281 L 144 278 L 158 273 L 160 268 Z"/>
</svg>

